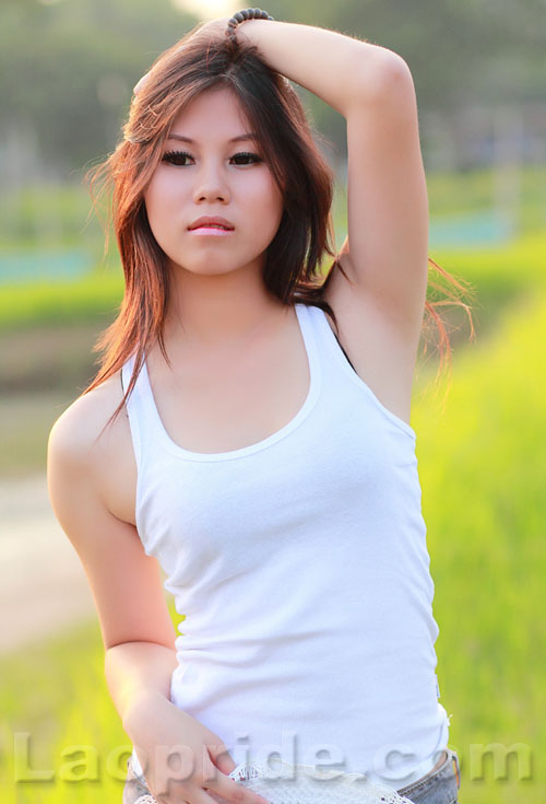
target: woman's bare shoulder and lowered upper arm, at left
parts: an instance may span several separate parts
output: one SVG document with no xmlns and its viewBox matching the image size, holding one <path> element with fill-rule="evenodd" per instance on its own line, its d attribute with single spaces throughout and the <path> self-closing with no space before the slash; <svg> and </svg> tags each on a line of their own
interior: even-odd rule
<svg viewBox="0 0 546 804">
<path fill-rule="evenodd" d="M 85 569 L 105 648 L 156 642 L 174 650 L 157 559 L 145 552 L 136 527 L 118 515 L 123 483 L 133 482 L 123 474 L 131 450 L 124 410 L 104 426 L 121 399 L 118 373 L 57 419 L 48 441 L 49 499 Z"/>
</svg>

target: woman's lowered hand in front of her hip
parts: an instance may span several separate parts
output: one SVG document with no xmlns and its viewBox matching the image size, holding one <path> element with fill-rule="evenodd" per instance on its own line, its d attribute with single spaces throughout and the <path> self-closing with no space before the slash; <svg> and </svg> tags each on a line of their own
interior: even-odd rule
<svg viewBox="0 0 546 804">
<path fill-rule="evenodd" d="M 165 804 L 269 804 L 227 776 L 236 767 L 222 739 L 164 696 L 146 696 L 123 722 L 152 795 Z"/>
</svg>

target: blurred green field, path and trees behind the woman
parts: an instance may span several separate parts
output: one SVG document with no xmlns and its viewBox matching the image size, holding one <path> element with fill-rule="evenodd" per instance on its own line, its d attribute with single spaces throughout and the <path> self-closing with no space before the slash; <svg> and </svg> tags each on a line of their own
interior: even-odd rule
<svg viewBox="0 0 546 804">
<path fill-rule="evenodd" d="M 4 802 L 121 801 L 130 744 L 106 688 L 85 573 L 55 520 L 45 476 L 49 430 L 94 376 L 92 347 L 123 289 L 115 242 L 105 256 L 83 175 L 114 150 L 132 86 L 156 56 L 200 20 L 238 8 L 0 4 Z M 411 67 L 429 255 L 476 293 L 474 340 L 462 311 L 440 308 L 451 378 L 432 393 L 438 356 L 429 349 L 412 410 L 440 626 L 440 701 L 461 760 L 461 804 L 544 802 L 546 2 L 268 0 L 268 11 L 366 38 Z M 345 120 L 295 88 L 328 139 L 340 247 Z"/>
</svg>

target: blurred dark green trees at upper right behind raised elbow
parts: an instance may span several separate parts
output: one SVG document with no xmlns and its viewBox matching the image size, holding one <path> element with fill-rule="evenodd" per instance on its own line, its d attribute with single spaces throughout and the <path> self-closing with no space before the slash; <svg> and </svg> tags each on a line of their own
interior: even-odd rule
<svg viewBox="0 0 546 804">
<path fill-rule="evenodd" d="M 270 0 L 273 16 L 359 36 L 408 62 L 424 108 L 546 101 L 545 0 Z"/>
</svg>

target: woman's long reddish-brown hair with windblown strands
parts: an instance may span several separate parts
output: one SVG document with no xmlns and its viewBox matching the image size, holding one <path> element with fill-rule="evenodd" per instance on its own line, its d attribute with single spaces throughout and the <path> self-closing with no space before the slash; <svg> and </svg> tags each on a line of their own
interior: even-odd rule
<svg viewBox="0 0 546 804">
<path fill-rule="evenodd" d="M 285 304 L 320 306 L 337 327 L 323 291 L 336 266 L 344 271 L 334 259 L 325 280 L 320 272 L 324 255 L 339 257 L 332 246 L 335 174 L 316 144 L 316 140 L 325 140 L 311 130 L 289 81 L 264 63 L 254 45 L 238 43 L 233 53 L 227 42 L 203 36 L 201 27 L 202 24 L 195 26 L 154 61 L 143 89 L 133 97 L 122 127 L 123 139 L 106 161 L 86 174 L 95 209 L 98 196 L 105 189 L 111 191 L 105 253 L 112 221 L 124 293 L 117 318 L 93 347 L 93 351 L 104 356 L 96 376 L 82 395 L 115 374 L 135 353 L 131 381 L 107 424 L 122 410 L 152 343 L 157 341 L 169 363 L 164 343 L 169 275 L 166 256 L 152 234 L 143 196 L 175 119 L 204 90 L 227 88 L 235 94 L 283 194 L 283 217 L 265 254 L 265 287 Z M 434 265 L 463 291 L 453 277 Z M 439 327 L 443 356 L 450 353 L 449 338 L 434 306 L 427 300 L 426 307 Z"/>
</svg>

